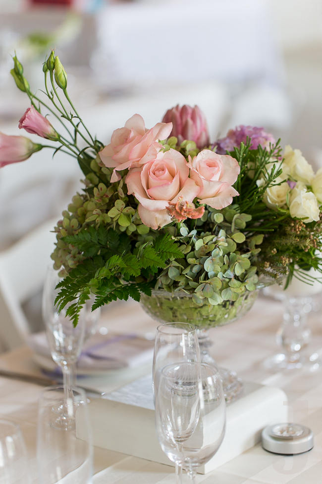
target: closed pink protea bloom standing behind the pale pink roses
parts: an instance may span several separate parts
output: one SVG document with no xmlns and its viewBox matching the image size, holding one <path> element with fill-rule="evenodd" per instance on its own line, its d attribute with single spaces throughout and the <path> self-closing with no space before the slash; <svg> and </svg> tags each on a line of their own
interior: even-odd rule
<svg viewBox="0 0 322 484">
<path fill-rule="evenodd" d="M 209 133 L 204 113 L 198 106 L 192 108 L 185 104 L 180 108 L 177 104 L 168 109 L 162 119 L 163 123 L 172 123 L 171 136 L 178 138 L 179 144 L 184 139 L 195 141 L 197 147 L 209 145 Z"/>
</svg>

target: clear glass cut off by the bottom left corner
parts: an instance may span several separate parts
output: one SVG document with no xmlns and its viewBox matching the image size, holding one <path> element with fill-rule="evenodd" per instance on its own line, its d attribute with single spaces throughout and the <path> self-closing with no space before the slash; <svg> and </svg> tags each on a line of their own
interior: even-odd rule
<svg viewBox="0 0 322 484">
<path fill-rule="evenodd" d="M 0 420 L 0 484 L 29 484 L 27 454 L 19 425 Z"/>
</svg>

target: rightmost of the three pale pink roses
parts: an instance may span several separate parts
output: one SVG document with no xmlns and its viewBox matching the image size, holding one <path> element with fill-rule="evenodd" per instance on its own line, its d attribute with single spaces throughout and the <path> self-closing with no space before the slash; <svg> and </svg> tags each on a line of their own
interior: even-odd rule
<svg viewBox="0 0 322 484">
<path fill-rule="evenodd" d="M 203 149 L 189 160 L 189 166 L 190 177 L 201 188 L 198 202 L 220 210 L 232 203 L 232 197 L 239 195 L 231 186 L 240 172 L 240 166 L 232 156 Z"/>
</svg>

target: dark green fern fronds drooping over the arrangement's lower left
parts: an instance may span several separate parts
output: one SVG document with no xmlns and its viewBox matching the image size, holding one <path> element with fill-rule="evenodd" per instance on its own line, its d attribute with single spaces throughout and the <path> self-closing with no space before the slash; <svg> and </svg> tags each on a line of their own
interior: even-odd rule
<svg viewBox="0 0 322 484">
<path fill-rule="evenodd" d="M 67 311 L 74 325 L 91 292 L 96 296 L 93 310 L 116 299 L 139 300 L 141 292 L 151 294 L 151 276 L 170 259 L 183 256 L 169 234 L 135 247 L 126 234 L 103 225 L 82 228 L 62 241 L 82 256 L 81 263 L 58 284 L 56 298 L 60 310 L 72 302 Z"/>
</svg>

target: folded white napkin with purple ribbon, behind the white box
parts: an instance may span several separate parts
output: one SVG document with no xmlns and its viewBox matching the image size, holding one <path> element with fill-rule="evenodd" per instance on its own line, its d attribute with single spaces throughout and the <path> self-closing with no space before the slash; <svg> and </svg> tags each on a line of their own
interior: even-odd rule
<svg viewBox="0 0 322 484">
<path fill-rule="evenodd" d="M 32 334 L 28 344 L 36 353 L 51 357 L 45 332 Z M 135 333 L 98 333 L 84 344 L 77 368 L 95 371 L 139 366 L 152 360 L 153 348 L 153 341 Z"/>
</svg>

